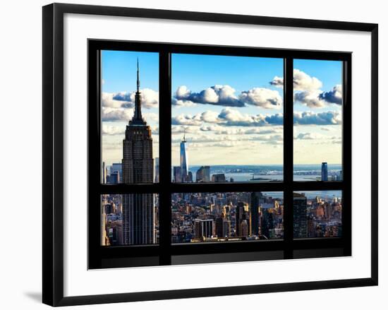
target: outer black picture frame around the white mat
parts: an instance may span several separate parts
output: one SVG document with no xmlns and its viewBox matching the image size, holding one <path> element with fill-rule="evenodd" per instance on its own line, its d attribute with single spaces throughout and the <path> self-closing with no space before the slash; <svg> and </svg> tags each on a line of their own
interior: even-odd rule
<svg viewBox="0 0 388 310">
<path fill-rule="evenodd" d="M 371 33 L 371 276 L 348 280 L 243 285 L 206 289 L 128 292 L 63 297 L 63 16 L 66 13 L 168 20 L 194 20 L 213 23 L 286 26 L 327 30 L 353 30 Z M 42 299 L 51 306 L 135 302 L 227 294 L 257 294 L 296 290 L 360 287 L 378 283 L 378 25 L 297 18 L 241 16 L 219 13 L 165 11 L 145 8 L 50 4 L 43 7 L 43 274 Z M 291 120 L 292 121 L 292 120 Z"/>
</svg>

